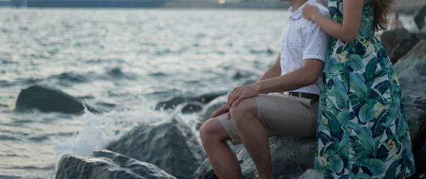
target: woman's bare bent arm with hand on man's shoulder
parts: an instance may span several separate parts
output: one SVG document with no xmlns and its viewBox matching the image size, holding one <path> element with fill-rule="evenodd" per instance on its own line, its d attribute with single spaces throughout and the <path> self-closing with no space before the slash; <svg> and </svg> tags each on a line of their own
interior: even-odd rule
<svg viewBox="0 0 426 179">
<path fill-rule="evenodd" d="M 306 4 L 303 7 L 303 17 L 314 21 L 329 35 L 352 42 L 359 32 L 364 0 L 343 0 L 343 23 L 337 23 L 320 13 L 317 6 Z"/>
</svg>

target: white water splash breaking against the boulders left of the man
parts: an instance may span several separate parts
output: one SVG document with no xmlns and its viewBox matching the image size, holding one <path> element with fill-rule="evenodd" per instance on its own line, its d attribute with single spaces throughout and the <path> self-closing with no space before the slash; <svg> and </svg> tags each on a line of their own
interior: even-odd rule
<svg viewBox="0 0 426 179">
<path fill-rule="evenodd" d="M 138 105 L 137 110 L 114 110 L 104 114 L 94 114 L 85 109 L 82 116 L 82 127 L 75 133 L 75 137 L 65 142 L 53 143 L 56 166 L 63 155 L 88 156 L 93 151 L 104 149 L 107 144 L 119 139 L 136 125 L 156 122 L 169 116 L 165 112 L 153 110 L 151 108 L 153 104 L 143 96 L 136 96 L 133 100 Z"/>
</svg>

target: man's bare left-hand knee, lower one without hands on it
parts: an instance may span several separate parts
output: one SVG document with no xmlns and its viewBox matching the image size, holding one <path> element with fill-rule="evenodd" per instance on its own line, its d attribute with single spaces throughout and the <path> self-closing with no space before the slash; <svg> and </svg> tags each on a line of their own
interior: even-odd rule
<svg viewBox="0 0 426 179">
<path fill-rule="evenodd" d="M 219 120 L 212 118 L 204 122 L 200 127 L 200 138 L 205 146 L 206 144 L 212 144 L 212 142 L 224 142 L 229 137 Z"/>
</svg>

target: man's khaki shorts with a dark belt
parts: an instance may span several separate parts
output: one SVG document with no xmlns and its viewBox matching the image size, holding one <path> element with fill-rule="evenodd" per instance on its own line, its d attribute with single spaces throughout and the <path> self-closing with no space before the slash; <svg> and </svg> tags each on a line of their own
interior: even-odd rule
<svg viewBox="0 0 426 179">
<path fill-rule="evenodd" d="M 318 103 L 315 100 L 283 94 L 259 95 L 255 99 L 258 120 L 263 123 L 268 137 L 315 137 L 318 112 Z M 218 116 L 217 120 L 224 126 L 232 144 L 241 144 L 234 120 L 228 120 L 227 114 Z"/>
</svg>

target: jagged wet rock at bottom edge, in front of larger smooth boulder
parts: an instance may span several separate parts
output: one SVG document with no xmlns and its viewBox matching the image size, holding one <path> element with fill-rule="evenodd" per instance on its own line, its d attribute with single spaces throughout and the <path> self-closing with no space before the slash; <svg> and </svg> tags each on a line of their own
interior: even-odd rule
<svg viewBox="0 0 426 179">
<path fill-rule="evenodd" d="M 95 151 L 92 156 L 65 155 L 56 179 L 176 179 L 157 166 L 111 151 Z"/>
</svg>

